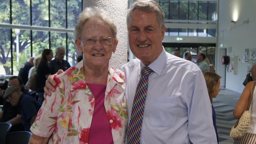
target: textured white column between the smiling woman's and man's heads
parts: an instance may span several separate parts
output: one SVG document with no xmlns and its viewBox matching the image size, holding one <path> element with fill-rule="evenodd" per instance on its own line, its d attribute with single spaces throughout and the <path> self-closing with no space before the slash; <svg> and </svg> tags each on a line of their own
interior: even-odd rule
<svg viewBox="0 0 256 144">
<path fill-rule="evenodd" d="M 118 45 L 115 54 L 112 55 L 109 65 L 120 69 L 127 63 L 127 26 L 126 13 L 128 0 L 83 0 L 84 7 L 99 7 L 107 11 L 117 24 Z"/>
</svg>

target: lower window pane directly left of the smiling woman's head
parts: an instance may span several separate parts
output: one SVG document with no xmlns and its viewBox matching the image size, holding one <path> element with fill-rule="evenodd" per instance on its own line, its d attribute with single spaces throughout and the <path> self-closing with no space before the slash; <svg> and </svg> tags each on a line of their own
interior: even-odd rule
<svg viewBox="0 0 256 144">
<path fill-rule="evenodd" d="M 77 55 L 81 55 L 76 49 L 76 44 L 74 42 L 74 35 L 72 33 L 68 33 L 68 62 L 70 66 L 74 66 L 77 61 Z"/>
</svg>

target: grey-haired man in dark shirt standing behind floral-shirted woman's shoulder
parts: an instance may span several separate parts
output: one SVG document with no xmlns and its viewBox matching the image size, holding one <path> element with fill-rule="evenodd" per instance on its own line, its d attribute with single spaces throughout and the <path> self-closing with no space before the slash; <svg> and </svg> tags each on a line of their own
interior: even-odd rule
<svg viewBox="0 0 256 144">
<path fill-rule="evenodd" d="M 52 74 L 56 74 L 56 72 L 58 72 L 58 70 L 65 71 L 68 68 L 70 68 L 69 62 L 64 60 L 65 48 L 63 48 L 61 46 L 56 48 L 55 54 L 56 54 L 55 59 L 49 63 L 50 70 L 51 70 Z"/>
</svg>

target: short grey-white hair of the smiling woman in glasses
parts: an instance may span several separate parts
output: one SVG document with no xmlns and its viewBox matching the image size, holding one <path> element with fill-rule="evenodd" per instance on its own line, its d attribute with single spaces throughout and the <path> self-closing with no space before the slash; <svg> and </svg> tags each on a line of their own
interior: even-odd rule
<svg viewBox="0 0 256 144">
<path fill-rule="evenodd" d="M 103 9 L 100 9 L 98 7 L 86 7 L 83 9 L 83 11 L 79 14 L 78 22 L 76 24 L 75 30 L 74 30 L 74 39 L 80 39 L 83 31 L 83 25 L 87 20 L 98 17 L 102 19 L 103 22 L 105 22 L 109 28 L 111 29 L 111 32 L 113 34 L 113 38 L 115 39 L 117 37 L 117 26 L 115 25 L 112 18 L 108 15 L 106 11 Z"/>
</svg>

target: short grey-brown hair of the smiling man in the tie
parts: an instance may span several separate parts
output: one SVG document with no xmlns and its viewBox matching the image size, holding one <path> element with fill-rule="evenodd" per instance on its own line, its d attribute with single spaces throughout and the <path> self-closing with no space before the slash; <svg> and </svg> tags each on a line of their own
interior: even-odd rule
<svg viewBox="0 0 256 144">
<path fill-rule="evenodd" d="M 134 4 L 132 4 L 132 7 L 128 10 L 127 13 L 126 24 L 128 30 L 131 14 L 132 11 L 134 11 L 135 9 L 145 11 L 147 13 L 156 13 L 156 18 L 158 20 L 160 28 L 163 28 L 163 26 L 165 25 L 165 13 L 157 2 L 155 2 L 154 0 L 137 0 L 136 2 L 134 2 Z"/>
</svg>

